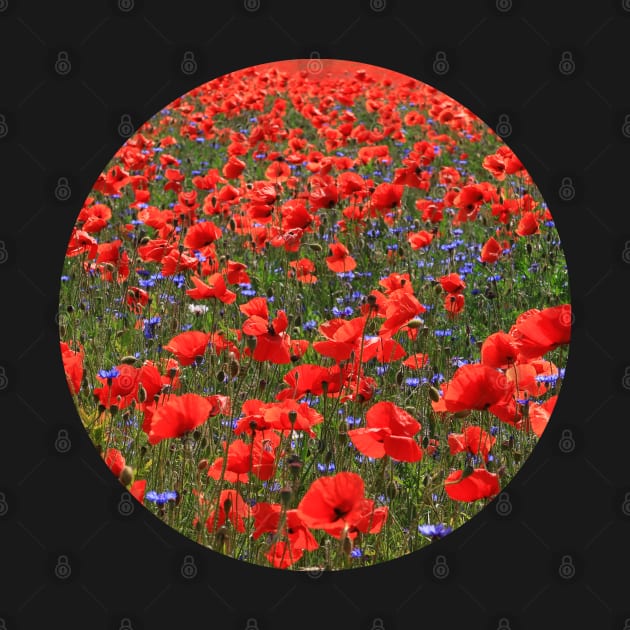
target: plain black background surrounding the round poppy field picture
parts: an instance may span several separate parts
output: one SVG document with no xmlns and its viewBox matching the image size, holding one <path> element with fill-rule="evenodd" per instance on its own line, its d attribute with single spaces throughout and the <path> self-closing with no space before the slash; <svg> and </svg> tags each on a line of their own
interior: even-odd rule
<svg viewBox="0 0 630 630">
<path fill-rule="evenodd" d="M 221 74 L 311 53 L 509 121 L 575 315 L 556 411 L 502 508 L 417 554 L 313 576 L 120 511 L 57 332 L 66 243 L 121 117 L 139 125 Z M 629 62 L 621 0 L 0 0 L 0 628 L 630 628 Z"/>
</svg>

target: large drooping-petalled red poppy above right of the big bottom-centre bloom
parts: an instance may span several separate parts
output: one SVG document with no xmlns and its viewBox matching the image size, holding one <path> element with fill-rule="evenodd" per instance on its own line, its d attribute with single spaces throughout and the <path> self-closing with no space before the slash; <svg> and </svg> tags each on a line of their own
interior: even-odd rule
<svg viewBox="0 0 630 630">
<path fill-rule="evenodd" d="M 348 431 L 355 448 L 367 457 L 417 462 L 422 459 L 422 449 L 413 436 L 421 424 L 404 409 L 388 401 L 380 401 L 367 412 L 366 426 Z"/>
</svg>

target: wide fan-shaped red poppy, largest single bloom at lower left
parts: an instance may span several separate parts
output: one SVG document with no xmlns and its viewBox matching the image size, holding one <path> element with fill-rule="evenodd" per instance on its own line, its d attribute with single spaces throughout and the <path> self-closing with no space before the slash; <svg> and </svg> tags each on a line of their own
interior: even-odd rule
<svg viewBox="0 0 630 630">
<path fill-rule="evenodd" d="M 211 409 L 212 403 L 198 394 L 169 396 L 150 414 L 150 422 L 146 427 L 149 444 L 180 437 L 196 429 L 208 420 Z"/>
</svg>

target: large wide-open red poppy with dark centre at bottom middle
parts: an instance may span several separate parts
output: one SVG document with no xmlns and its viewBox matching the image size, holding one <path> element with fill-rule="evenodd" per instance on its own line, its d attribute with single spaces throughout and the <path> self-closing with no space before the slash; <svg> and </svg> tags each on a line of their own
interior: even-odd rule
<svg viewBox="0 0 630 630">
<path fill-rule="evenodd" d="M 374 509 L 370 509 L 373 503 L 368 503 L 368 509 L 365 509 L 368 500 L 364 491 L 363 479 L 357 473 L 340 472 L 320 477 L 304 494 L 297 507 L 298 515 L 307 527 L 323 529 L 335 538 L 340 538 L 344 530 L 358 525 L 367 530 Z"/>
</svg>

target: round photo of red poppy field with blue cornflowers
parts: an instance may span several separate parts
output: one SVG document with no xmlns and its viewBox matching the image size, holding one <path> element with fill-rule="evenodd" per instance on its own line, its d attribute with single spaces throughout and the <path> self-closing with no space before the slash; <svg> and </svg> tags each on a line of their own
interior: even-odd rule
<svg viewBox="0 0 630 630">
<path fill-rule="evenodd" d="M 497 497 L 556 404 L 560 239 L 519 158 L 383 68 L 205 83 L 106 165 L 69 236 L 68 387 L 183 536 L 282 570 L 422 549 Z"/>
</svg>

